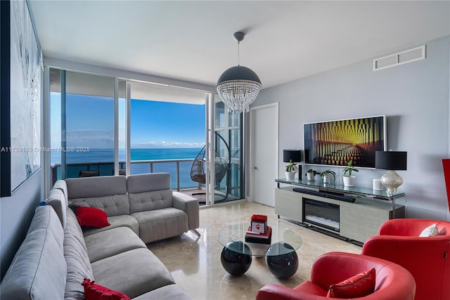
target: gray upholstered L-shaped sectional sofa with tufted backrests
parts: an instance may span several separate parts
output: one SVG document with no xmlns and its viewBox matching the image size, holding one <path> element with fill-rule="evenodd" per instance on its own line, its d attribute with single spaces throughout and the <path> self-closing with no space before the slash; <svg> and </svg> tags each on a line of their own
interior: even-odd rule
<svg viewBox="0 0 450 300">
<path fill-rule="evenodd" d="M 178 194 L 169 174 L 57 181 L 1 282 L 0 299 L 84 299 L 84 278 L 131 299 L 190 299 L 146 247 L 198 227 L 198 201 Z M 110 226 L 83 231 L 70 203 L 104 210 Z"/>
</svg>

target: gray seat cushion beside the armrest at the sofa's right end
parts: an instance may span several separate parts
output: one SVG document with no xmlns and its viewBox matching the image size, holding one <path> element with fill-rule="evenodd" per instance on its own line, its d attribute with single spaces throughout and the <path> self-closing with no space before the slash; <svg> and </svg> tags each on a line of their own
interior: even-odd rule
<svg viewBox="0 0 450 300">
<path fill-rule="evenodd" d="M 143 242 L 163 240 L 188 231 L 188 214 L 169 207 L 153 211 L 141 211 L 131 214 L 139 223 L 139 237 Z"/>
</svg>

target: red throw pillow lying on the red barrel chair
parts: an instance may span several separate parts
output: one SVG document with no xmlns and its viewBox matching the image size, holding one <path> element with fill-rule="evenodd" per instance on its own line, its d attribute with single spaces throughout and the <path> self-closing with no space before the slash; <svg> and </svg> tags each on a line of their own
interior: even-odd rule
<svg viewBox="0 0 450 300">
<path fill-rule="evenodd" d="M 328 298 L 358 298 L 375 291 L 375 268 L 359 273 L 351 278 L 331 285 Z"/>
</svg>

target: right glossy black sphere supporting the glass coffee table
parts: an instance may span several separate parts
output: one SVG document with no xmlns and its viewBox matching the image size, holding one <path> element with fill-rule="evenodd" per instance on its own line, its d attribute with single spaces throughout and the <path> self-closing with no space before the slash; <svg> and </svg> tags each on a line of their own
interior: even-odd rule
<svg viewBox="0 0 450 300">
<path fill-rule="evenodd" d="M 271 244 L 267 249 L 266 265 L 276 278 L 290 278 L 298 269 L 297 252 L 285 242 Z"/>
</svg>

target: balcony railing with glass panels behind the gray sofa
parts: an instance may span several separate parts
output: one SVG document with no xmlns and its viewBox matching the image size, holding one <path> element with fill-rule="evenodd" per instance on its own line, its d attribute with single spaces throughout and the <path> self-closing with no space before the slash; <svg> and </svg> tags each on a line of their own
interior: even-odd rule
<svg viewBox="0 0 450 300">
<path fill-rule="evenodd" d="M 131 161 L 131 174 L 167 172 L 170 174 L 171 187 L 200 188 L 202 185 L 191 180 L 191 165 L 194 159 L 153 159 Z M 119 169 L 125 169 L 125 162 L 119 162 Z M 61 178 L 60 164 L 51 164 L 53 184 Z M 98 171 L 100 176 L 114 175 L 114 162 L 72 162 L 67 164 L 66 177 L 79 177 L 80 171 Z"/>
</svg>

